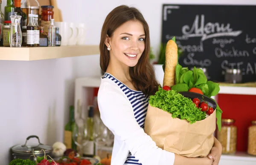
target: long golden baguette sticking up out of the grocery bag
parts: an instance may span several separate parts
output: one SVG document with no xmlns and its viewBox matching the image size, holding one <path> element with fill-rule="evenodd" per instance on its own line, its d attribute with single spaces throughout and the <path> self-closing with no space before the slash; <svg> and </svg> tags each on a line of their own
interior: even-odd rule
<svg viewBox="0 0 256 165">
<path fill-rule="evenodd" d="M 166 44 L 166 64 L 163 77 L 163 86 L 175 85 L 175 68 L 178 62 L 178 48 L 173 40 L 169 40 Z"/>
</svg>

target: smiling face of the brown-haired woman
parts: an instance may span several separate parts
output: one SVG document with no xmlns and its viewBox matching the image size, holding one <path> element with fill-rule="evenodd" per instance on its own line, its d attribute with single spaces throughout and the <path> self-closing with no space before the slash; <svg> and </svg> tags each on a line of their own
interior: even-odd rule
<svg viewBox="0 0 256 165">
<path fill-rule="evenodd" d="M 140 21 L 127 21 L 116 28 L 111 38 L 110 58 L 115 62 L 133 67 L 145 49 L 145 31 Z M 106 45 L 109 45 L 106 43 Z"/>
</svg>

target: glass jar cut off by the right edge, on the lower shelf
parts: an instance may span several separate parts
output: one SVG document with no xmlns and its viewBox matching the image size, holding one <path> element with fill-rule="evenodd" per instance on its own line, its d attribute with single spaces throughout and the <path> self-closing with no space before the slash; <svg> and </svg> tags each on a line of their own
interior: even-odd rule
<svg viewBox="0 0 256 165">
<path fill-rule="evenodd" d="M 247 153 L 256 156 L 256 120 L 252 121 L 252 125 L 248 130 L 248 149 Z"/>
</svg>

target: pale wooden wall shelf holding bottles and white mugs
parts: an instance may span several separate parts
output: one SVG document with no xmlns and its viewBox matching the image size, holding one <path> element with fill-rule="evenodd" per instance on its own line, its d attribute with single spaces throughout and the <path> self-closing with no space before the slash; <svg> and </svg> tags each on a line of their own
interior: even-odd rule
<svg viewBox="0 0 256 165">
<path fill-rule="evenodd" d="M 54 47 L 0 47 L 0 60 L 47 60 L 99 54 L 98 45 L 54 46 Z"/>
</svg>

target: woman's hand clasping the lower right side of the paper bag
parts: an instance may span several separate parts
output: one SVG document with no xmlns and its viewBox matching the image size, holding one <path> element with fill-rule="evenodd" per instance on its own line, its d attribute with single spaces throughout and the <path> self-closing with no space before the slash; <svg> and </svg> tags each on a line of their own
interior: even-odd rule
<svg viewBox="0 0 256 165">
<path fill-rule="evenodd" d="M 208 158 L 213 160 L 212 165 L 218 165 L 221 159 L 221 153 L 222 153 L 221 143 L 218 141 L 218 139 L 214 137 L 214 144 L 210 154 L 208 155 Z"/>
</svg>

